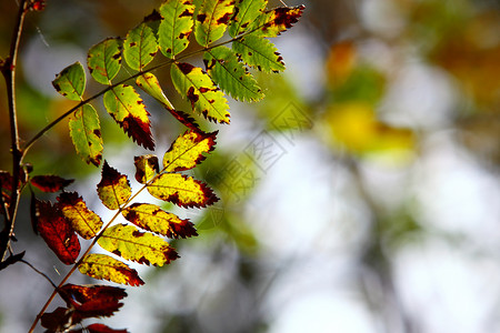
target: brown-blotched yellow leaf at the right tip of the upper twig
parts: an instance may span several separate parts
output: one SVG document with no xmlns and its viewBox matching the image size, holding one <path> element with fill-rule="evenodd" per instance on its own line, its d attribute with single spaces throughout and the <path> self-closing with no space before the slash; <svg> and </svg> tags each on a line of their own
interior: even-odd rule
<svg viewBox="0 0 500 333">
<path fill-rule="evenodd" d="M 297 7 L 279 7 L 268 10 L 263 16 L 260 16 L 260 18 L 256 20 L 251 28 L 257 30 L 251 34 L 260 37 L 277 37 L 297 23 L 304 9 L 306 7 L 301 4 Z"/>
</svg>

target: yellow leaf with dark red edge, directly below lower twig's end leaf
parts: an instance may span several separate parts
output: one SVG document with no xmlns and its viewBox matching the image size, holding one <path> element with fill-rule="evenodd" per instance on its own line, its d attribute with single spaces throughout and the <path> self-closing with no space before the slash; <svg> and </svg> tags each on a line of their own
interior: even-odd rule
<svg viewBox="0 0 500 333">
<path fill-rule="evenodd" d="M 219 200 L 204 183 L 178 173 L 163 173 L 148 185 L 149 193 L 180 206 L 202 208 Z"/>
</svg>

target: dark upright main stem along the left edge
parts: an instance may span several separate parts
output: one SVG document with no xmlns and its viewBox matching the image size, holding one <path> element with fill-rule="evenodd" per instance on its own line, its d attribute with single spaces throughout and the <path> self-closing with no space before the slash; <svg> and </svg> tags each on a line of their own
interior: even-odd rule
<svg viewBox="0 0 500 333">
<path fill-rule="evenodd" d="M 13 235 L 16 215 L 19 204 L 19 194 L 21 188 L 21 160 L 22 153 L 19 144 L 18 114 L 16 108 L 16 67 L 19 51 L 19 43 L 22 34 L 22 26 L 28 11 L 28 1 L 21 0 L 19 3 L 18 18 L 12 32 L 9 57 L 2 63 L 2 74 L 7 83 L 7 94 L 9 101 L 9 122 L 10 122 L 10 140 L 12 152 L 12 193 L 9 206 L 9 215 L 6 216 L 6 225 L 0 234 L 0 255 L 1 261 L 6 258 L 9 249 L 10 240 Z"/>
</svg>

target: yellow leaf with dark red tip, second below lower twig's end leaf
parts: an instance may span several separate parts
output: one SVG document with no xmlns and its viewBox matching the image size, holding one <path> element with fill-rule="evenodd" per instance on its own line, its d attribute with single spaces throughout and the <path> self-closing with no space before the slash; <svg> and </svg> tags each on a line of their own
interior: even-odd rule
<svg viewBox="0 0 500 333">
<path fill-rule="evenodd" d="M 189 220 L 181 220 L 179 216 L 168 213 L 154 204 L 134 203 L 124 209 L 122 214 L 137 226 L 170 239 L 184 239 L 198 235 Z"/>
</svg>

